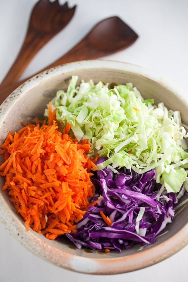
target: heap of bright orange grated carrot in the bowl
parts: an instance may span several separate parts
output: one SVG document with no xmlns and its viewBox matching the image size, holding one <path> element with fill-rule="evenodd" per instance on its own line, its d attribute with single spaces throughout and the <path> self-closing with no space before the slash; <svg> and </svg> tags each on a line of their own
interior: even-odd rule
<svg viewBox="0 0 188 282">
<path fill-rule="evenodd" d="M 0 147 L 5 158 L 0 175 L 6 176 L 3 190 L 8 190 L 26 229 L 55 239 L 76 232 L 76 222 L 94 194 L 90 169 L 96 166 L 86 155 L 88 140 L 80 144 L 73 139 L 69 124 L 63 133 L 58 131 L 50 107 L 48 125 L 24 124 L 17 133 L 8 133 Z"/>
</svg>

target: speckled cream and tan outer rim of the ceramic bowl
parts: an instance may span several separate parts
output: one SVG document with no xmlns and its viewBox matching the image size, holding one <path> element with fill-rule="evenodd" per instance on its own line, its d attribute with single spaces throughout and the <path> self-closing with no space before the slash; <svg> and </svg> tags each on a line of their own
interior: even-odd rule
<svg viewBox="0 0 188 282">
<path fill-rule="evenodd" d="M 180 97 L 183 102 L 187 96 L 187 93 L 174 82 L 164 78 L 154 71 L 145 69 L 138 65 L 109 60 L 79 61 L 60 65 L 48 71 L 44 71 L 37 76 L 32 77 L 24 84 L 19 86 L 15 91 L 13 91 L 0 107 L 1 127 L 6 118 L 7 112 L 12 110 L 14 104 L 17 103 L 25 93 L 27 93 L 30 89 L 37 87 L 41 82 L 58 76 L 62 73 L 67 73 L 74 70 L 89 70 L 96 68 L 122 70 L 128 71 L 130 73 L 136 73 L 161 84 L 173 92 L 177 98 Z M 65 269 L 88 274 L 118 274 L 138 270 L 156 264 L 170 257 L 188 244 L 188 224 L 186 224 L 179 232 L 165 241 L 165 244 L 159 244 L 151 249 L 142 251 L 142 253 L 138 252 L 136 254 L 129 255 L 128 257 L 92 259 L 66 253 L 61 250 L 57 253 L 56 248 L 35 237 L 34 233 L 26 232 L 24 224 L 21 223 L 17 218 L 14 218 L 13 215 L 8 211 L 7 204 L 1 194 L 0 221 L 10 232 L 10 234 L 18 240 L 19 243 L 21 243 L 25 248 L 35 255 Z"/>
</svg>

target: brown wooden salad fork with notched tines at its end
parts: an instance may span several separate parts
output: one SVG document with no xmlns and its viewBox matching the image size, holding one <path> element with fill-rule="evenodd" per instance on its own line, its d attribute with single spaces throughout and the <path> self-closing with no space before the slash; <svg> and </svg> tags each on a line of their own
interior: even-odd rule
<svg viewBox="0 0 188 282">
<path fill-rule="evenodd" d="M 24 43 L 1 86 L 17 81 L 37 52 L 70 22 L 76 6 L 39 0 L 34 6 Z"/>
</svg>

